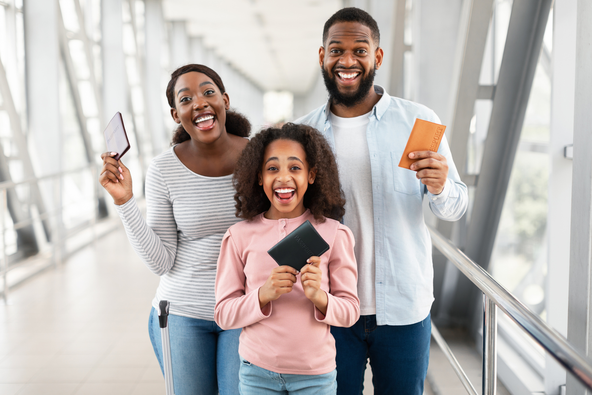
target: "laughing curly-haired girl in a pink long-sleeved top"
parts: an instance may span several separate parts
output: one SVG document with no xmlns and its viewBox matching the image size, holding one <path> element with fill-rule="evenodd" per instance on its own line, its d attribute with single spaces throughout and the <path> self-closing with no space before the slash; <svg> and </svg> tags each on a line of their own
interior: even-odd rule
<svg viewBox="0 0 592 395">
<path fill-rule="evenodd" d="M 329 326 L 359 317 L 353 236 L 337 165 L 316 129 L 285 124 L 247 144 L 234 172 L 236 215 L 224 235 L 216 275 L 215 321 L 240 335 L 240 393 L 335 394 Z M 300 272 L 268 249 L 310 220 L 330 249 Z M 300 278 L 298 278 L 300 277 Z"/>
</svg>

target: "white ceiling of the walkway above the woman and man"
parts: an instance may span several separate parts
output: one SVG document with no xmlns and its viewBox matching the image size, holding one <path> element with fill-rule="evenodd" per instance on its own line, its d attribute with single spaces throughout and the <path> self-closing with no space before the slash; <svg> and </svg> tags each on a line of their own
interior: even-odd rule
<svg viewBox="0 0 592 395">
<path fill-rule="evenodd" d="M 166 20 L 188 21 L 235 68 L 265 89 L 307 92 L 318 75 L 325 21 L 342 0 L 165 0 Z"/>
</svg>

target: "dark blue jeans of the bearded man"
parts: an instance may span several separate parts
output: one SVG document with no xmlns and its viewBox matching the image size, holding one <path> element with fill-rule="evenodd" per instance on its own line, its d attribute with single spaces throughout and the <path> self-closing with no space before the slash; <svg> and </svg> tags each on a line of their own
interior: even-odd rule
<svg viewBox="0 0 592 395">
<path fill-rule="evenodd" d="M 331 327 L 337 348 L 337 393 L 361 395 L 370 358 L 374 394 L 422 395 L 430 359 L 432 322 L 376 325 L 376 316 L 360 316 L 352 327 Z"/>
</svg>

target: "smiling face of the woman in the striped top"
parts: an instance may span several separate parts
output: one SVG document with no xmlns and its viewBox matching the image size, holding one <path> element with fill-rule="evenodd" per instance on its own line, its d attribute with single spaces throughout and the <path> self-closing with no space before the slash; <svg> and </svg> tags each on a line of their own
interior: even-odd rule
<svg viewBox="0 0 592 395">
<path fill-rule="evenodd" d="M 189 72 L 179 76 L 175 84 L 175 108 L 170 114 L 182 124 L 192 139 L 204 144 L 218 140 L 226 131 L 226 110 L 229 97 L 207 75 Z"/>
</svg>

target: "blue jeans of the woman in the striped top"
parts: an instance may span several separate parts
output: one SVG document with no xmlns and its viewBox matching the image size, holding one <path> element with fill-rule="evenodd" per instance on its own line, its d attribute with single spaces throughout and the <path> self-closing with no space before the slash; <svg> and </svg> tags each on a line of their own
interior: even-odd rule
<svg viewBox="0 0 592 395">
<path fill-rule="evenodd" d="M 175 395 L 239 394 L 241 329 L 222 330 L 214 321 L 169 315 L 170 359 Z M 150 311 L 150 341 L 162 365 L 158 313 Z"/>
</svg>

